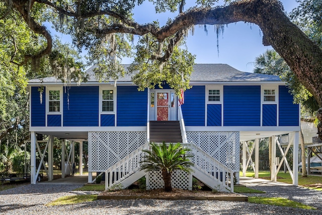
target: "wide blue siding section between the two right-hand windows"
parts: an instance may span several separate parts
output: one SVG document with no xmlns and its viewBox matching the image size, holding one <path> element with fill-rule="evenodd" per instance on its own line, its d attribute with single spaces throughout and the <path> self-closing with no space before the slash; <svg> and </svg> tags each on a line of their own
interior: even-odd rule
<svg viewBox="0 0 322 215">
<path fill-rule="evenodd" d="M 261 86 L 224 86 L 224 126 L 261 125 Z"/>
</svg>

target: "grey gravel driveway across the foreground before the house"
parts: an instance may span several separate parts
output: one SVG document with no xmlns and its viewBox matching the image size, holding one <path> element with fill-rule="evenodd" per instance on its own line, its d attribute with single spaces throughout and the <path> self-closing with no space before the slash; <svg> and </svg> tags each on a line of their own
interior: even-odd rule
<svg viewBox="0 0 322 215">
<path fill-rule="evenodd" d="M 294 186 L 259 186 L 258 196 L 286 197 L 317 210 L 252 204 L 249 202 L 198 200 L 96 200 L 65 206 L 44 204 L 66 195 L 97 194 L 72 191 L 80 185 L 25 185 L 0 191 L 0 214 L 322 214 L 322 192 Z M 250 195 L 249 195 L 250 196 Z"/>
</svg>

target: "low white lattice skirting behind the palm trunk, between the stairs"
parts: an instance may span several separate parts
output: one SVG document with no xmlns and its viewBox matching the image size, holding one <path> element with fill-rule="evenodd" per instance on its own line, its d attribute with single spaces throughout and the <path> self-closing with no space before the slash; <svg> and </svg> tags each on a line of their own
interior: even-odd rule
<svg viewBox="0 0 322 215">
<path fill-rule="evenodd" d="M 173 188 L 191 190 L 192 174 L 181 170 L 175 170 L 171 176 L 171 184 Z M 163 181 L 161 171 L 149 171 L 146 173 L 147 190 L 159 189 L 164 187 L 165 187 L 165 182 Z"/>
</svg>

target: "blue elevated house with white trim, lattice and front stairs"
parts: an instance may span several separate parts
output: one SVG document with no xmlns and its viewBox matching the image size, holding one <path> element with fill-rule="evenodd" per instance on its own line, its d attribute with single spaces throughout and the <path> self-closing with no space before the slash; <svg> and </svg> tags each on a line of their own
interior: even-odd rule
<svg viewBox="0 0 322 215">
<path fill-rule="evenodd" d="M 129 77 L 117 80 L 116 85 L 99 83 L 93 68 L 87 71 L 89 81 L 80 86 L 70 83 L 65 87 L 54 78 L 29 81 L 31 183 L 36 183 L 39 172 L 35 165 L 37 133 L 55 136 L 62 143 L 88 141 L 89 182 L 92 172 L 105 172 L 107 188 L 114 184 L 127 187 L 142 176 L 148 189 L 162 186 L 158 173 L 139 171 L 139 161 L 148 142 L 166 141 L 182 142 L 194 155 L 194 173 L 178 172 L 174 186 L 191 189 L 192 177 L 196 177 L 210 187 L 232 191 L 233 175 L 238 179 L 239 174 L 241 141 L 300 130 L 299 105 L 293 104 L 277 76 L 246 73 L 227 64 L 196 64 L 190 81 L 193 87 L 179 106 L 167 84 L 163 89 L 137 91 Z M 294 143 L 298 145 L 298 137 Z M 49 140 L 49 180 L 51 145 Z M 70 155 L 65 154 L 69 162 Z M 62 165 L 62 171 L 67 167 Z"/>
</svg>

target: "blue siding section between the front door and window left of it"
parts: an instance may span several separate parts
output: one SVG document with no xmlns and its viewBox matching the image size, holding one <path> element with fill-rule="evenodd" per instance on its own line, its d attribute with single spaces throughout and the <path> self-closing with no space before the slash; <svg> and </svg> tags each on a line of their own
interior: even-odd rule
<svg viewBox="0 0 322 215">
<path fill-rule="evenodd" d="M 147 90 L 135 86 L 117 87 L 117 126 L 146 126 Z"/>
</svg>

